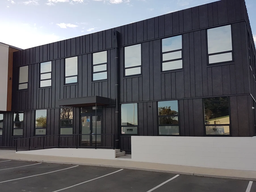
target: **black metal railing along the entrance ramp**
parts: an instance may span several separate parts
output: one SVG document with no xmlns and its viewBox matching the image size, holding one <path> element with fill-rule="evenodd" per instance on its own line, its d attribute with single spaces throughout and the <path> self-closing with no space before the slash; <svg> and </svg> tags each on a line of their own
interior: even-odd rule
<svg viewBox="0 0 256 192">
<path fill-rule="evenodd" d="M 16 151 L 49 148 L 115 149 L 114 134 L 46 135 L 15 139 Z"/>
</svg>

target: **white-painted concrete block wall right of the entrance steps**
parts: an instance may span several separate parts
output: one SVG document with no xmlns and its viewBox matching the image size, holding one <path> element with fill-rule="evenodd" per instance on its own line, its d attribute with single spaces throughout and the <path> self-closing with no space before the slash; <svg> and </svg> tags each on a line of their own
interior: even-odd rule
<svg viewBox="0 0 256 192">
<path fill-rule="evenodd" d="M 131 136 L 132 161 L 256 171 L 256 137 Z"/>
</svg>

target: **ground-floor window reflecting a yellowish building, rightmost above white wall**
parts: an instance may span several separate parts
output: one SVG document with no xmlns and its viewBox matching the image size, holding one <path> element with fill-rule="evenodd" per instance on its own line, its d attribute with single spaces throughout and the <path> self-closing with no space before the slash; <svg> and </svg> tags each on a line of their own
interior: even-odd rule
<svg viewBox="0 0 256 192">
<path fill-rule="evenodd" d="M 229 98 L 205 98 L 203 103 L 205 134 L 230 135 Z"/>
</svg>

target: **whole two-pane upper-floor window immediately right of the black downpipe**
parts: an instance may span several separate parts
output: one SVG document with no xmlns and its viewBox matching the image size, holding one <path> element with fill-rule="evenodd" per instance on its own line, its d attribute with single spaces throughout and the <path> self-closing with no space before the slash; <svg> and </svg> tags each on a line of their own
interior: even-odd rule
<svg viewBox="0 0 256 192">
<path fill-rule="evenodd" d="M 132 45 L 124 48 L 125 76 L 141 74 L 141 46 Z"/>
</svg>

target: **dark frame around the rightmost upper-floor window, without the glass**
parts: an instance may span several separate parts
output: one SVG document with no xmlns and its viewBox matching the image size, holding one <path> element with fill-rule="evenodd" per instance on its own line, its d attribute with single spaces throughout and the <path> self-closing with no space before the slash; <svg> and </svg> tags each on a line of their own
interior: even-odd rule
<svg viewBox="0 0 256 192">
<path fill-rule="evenodd" d="M 231 45 L 232 45 L 232 50 L 231 51 L 222 51 L 222 52 L 216 52 L 216 53 L 208 53 L 208 29 L 214 29 L 214 28 L 219 28 L 219 27 L 224 27 L 224 26 L 230 26 L 230 32 L 231 32 Z M 208 28 L 205 30 L 205 35 L 206 35 L 206 54 L 207 54 L 207 65 L 218 65 L 218 64 L 226 64 L 226 63 L 232 63 L 234 62 L 234 43 L 233 43 L 233 31 L 232 31 L 232 24 L 229 25 L 222 25 L 222 26 L 217 26 L 217 27 L 212 27 Z M 232 60 L 230 61 L 223 61 L 223 62 L 217 62 L 217 63 L 209 63 L 209 56 L 212 55 L 219 55 L 219 54 L 224 54 L 224 53 L 231 53 L 232 54 Z"/>
</svg>

